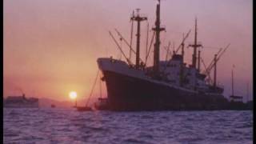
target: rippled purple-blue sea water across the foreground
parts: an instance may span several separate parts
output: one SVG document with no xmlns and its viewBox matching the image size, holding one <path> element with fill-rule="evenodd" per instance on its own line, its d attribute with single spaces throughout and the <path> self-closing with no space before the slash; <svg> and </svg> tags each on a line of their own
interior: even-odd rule
<svg viewBox="0 0 256 144">
<path fill-rule="evenodd" d="M 4 143 L 253 143 L 252 111 L 3 112 Z"/>
</svg>

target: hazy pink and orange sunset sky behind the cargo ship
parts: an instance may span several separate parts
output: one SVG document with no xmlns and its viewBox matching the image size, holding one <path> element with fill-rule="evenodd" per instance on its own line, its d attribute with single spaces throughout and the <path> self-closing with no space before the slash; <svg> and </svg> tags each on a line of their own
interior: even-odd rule
<svg viewBox="0 0 256 144">
<path fill-rule="evenodd" d="M 96 59 L 120 57 L 108 30 L 114 33 L 117 28 L 130 40 L 132 10 L 140 8 L 152 27 L 156 2 L 4 0 L 4 96 L 20 94 L 22 89 L 27 95 L 66 100 L 69 92 L 75 90 L 78 98 L 86 98 L 98 70 Z M 166 33 L 161 35 L 162 46 L 168 41 L 178 46 L 182 33 L 194 30 L 194 18 L 198 17 L 198 41 L 205 46 L 202 58 L 206 65 L 218 51 L 207 46 L 224 47 L 230 43 L 218 62 L 218 82 L 229 95 L 234 64 L 235 93 L 245 95 L 249 82 L 251 97 L 251 0 L 166 0 L 162 2 L 161 14 L 162 25 L 166 26 Z M 194 31 L 186 44 L 193 42 L 193 34 Z M 142 58 L 145 58 L 146 22 L 142 22 L 141 42 Z M 123 48 L 128 54 L 128 48 Z M 162 58 L 164 52 L 162 49 Z M 188 63 L 191 54 L 192 50 L 186 49 Z"/>
</svg>

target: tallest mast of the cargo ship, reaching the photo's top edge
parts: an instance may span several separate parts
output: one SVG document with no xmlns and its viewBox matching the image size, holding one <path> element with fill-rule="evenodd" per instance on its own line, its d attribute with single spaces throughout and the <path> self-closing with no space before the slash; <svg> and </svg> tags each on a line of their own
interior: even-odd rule
<svg viewBox="0 0 256 144">
<path fill-rule="evenodd" d="M 159 55 L 160 55 L 160 32 L 166 30 L 160 27 L 160 0 L 158 0 L 157 10 L 156 10 L 156 21 L 154 23 L 155 27 L 152 30 L 155 31 L 155 42 L 154 42 L 154 77 L 158 77 L 159 74 Z"/>
</svg>

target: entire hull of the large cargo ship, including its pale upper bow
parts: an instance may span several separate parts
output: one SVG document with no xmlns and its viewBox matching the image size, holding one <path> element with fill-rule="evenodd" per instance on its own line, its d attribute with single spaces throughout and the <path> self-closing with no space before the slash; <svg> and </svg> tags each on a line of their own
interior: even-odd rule
<svg viewBox="0 0 256 144">
<path fill-rule="evenodd" d="M 98 58 L 106 82 L 110 110 L 226 110 L 228 100 L 218 93 L 198 93 L 148 77 L 126 62 Z"/>
</svg>

